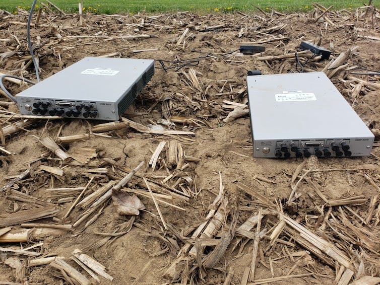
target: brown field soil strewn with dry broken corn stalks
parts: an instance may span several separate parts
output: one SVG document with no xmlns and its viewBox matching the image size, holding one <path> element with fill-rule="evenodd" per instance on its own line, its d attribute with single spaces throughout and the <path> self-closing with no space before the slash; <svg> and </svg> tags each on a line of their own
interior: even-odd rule
<svg viewBox="0 0 380 285">
<path fill-rule="evenodd" d="M 123 115 L 144 126 L 160 125 L 165 129 L 194 131 L 195 135 L 144 133 L 122 121 L 117 123 L 117 129 L 115 126 L 114 129 L 95 131 L 94 126 L 105 122 L 29 119 L 32 124 L 17 128 L 2 141 L 2 147 L 10 154 L 0 150 L 0 186 L 30 170 L 28 176 L 0 193 L 2 219 L 12 213 L 41 206 L 30 200 L 17 199 L 11 192 L 19 191 L 52 203 L 58 210 L 53 214 L 55 218 L 32 223 L 73 225 L 88 210 L 88 207 L 75 207 L 64 219 L 81 191 L 51 197 L 47 189 L 85 187 L 92 179 L 83 194 L 87 197 L 110 181 L 117 183 L 140 162 L 145 162 L 144 166 L 122 189 L 143 193 L 137 195 L 146 209 L 141 210 L 138 216 L 119 215 L 112 199 L 107 198 L 101 207 L 96 208 L 96 212 L 92 212 L 83 223 L 77 223 L 72 230 L 55 232 L 39 241 L 0 243 L 0 246 L 20 249 L 20 246 L 26 248 L 43 242 L 30 251 L 41 253 L 40 257 L 45 254 L 65 257 L 67 263 L 95 282 L 71 259 L 73 250 L 79 248 L 106 267 L 106 272 L 113 276 L 113 284 L 244 283 L 244 270 L 251 267 L 252 255 L 257 255 L 257 259 L 251 281 L 295 274 L 297 276 L 294 278 L 272 280 L 272 283 L 333 284 L 341 279 L 343 272 L 348 279 L 345 281 L 342 278 L 340 284 L 348 284 L 363 276 L 379 277 L 378 142 L 375 142 L 372 155 L 362 158 L 318 159 L 312 156 L 286 160 L 255 159 L 252 156 L 249 117 L 223 122 L 231 111 L 222 107 L 225 104 L 223 101 L 247 103 L 245 76 L 248 70 L 261 70 L 263 74 L 295 72 L 294 52 L 300 42 L 318 42 L 321 39 L 321 45 L 333 51 L 331 59 L 347 52 L 347 58 L 337 70 L 334 69 L 336 73 L 331 75 L 332 82 L 374 133 L 380 128 L 379 77 L 351 75 L 359 70 L 351 69 L 355 66 L 380 70 L 378 12 L 372 8 L 356 12 L 329 11 L 325 17 L 315 21 L 322 11 L 317 6 L 309 14 L 290 15 L 271 10 L 266 13 L 258 11 L 257 15 L 198 15 L 185 12 L 163 15 L 87 14 L 80 26 L 78 15 L 63 16 L 45 10 L 39 24 L 31 30 L 42 79 L 86 56 L 169 61 L 203 57 L 199 62 L 193 62 L 193 66 L 183 66 L 178 70 L 171 68 L 165 72 L 156 68 L 151 82 Z M 27 50 L 26 19 L 27 13 L 23 11 L 19 11 L 18 15 L 0 12 L 0 72 L 35 80 Z M 32 23 L 35 22 L 36 15 Z M 140 35 L 151 36 L 123 38 Z M 236 52 L 225 55 L 246 42 L 264 45 L 266 51 L 255 55 Z M 141 51 L 146 49 L 153 50 Z M 292 55 L 288 59 L 261 58 L 283 54 Z M 301 61 L 308 56 L 301 57 Z M 305 65 L 305 71 L 321 71 L 328 63 L 329 60 L 313 58 Z M 165 66 L 170 66 L 170 63 L 166 62 Z M 162 65 L 156 61 L 156 67 Z M 331 69 L 324 71 L 331 73 Z M 4 82 L 13 94 L 27 88 L 26 85 Z M 83 86 L 80 92 L 86 92 L 86 88 Z M 0 100 L 10 101 L 5 96 Z M 0 106 L 4 131 L 5 127 L 21 119 L 17 115 L 9 116 L 18 113 L 14 104 Z M 345 122 L 332 123 L 339 127 Z M 86 133 L 89 135 L 85 139 L 65 144 L 58 139 Z M 53 138 L 72 157 L 80 157 L 82 163 L 78 159 L 62 162 L 39 142 L 38 138 L 46 136 Z M 166 145 L 156 168 L 152 169 L 148 162 L 161 141 L 165 141 Z M 176 158 L 171 165 L 168 163 L 168 146 L 169 142 L 174 144 L 174 141 L 181 145 L 184 161 Z M 177 152 L 180 153 L 179 148 L 175 148 Z M 43 166 L 54 167 L 62 173 L 51 174 Z M 297 182 L 309 169 L 313 171 L 297 185 L 297 198 L 287 203 L 295 184 L 291 183 L 293 174 L 296 172 L 294 179 Z M 173 176 L 168 177 L 171 174 Z M 150 185 L 155 193 L 172 197 L 165 201 L 182 208 L 158 203 L 167 230 L 142 177 L 152 181 Z M 241 184 L 266 197 L 272 205 L 265 204 L 250 190 L 243 191 Z M 177 192 L 173 192 L 173 188 Z M 216 199 L 218 193 L 221 196 Z M 331 206 L 321 198 L 332 201 L 355 196 L 358 196 L 357 202 L 340 206 Z M 58 201 L 66 197 L 71 198 Z M 224 204 L 226 201 L 228 205 Z M 273 246 L 269 246 L 272 227 L 278 225 L 280 219 L 280 214 L 274 215 L 269 209 L 272 206 L 279 208 L 280 205 L 284 215 L 347 255 L 350 265 L 342 267 L 343 263 L 329 254 L 321 257 L 325 256 L 322 253 L 324 250 L 320 249 L 320 254 L 318 250 L 317 253 L 311 251 L 310 245 L 299 243 L 301 237 L 292 229 L 289 235 L 280 231 Z M 260 208 L 263 209 L 263 219 L 259 220 L 265 235 L 260 242 L 257 238 L 255 242 L 255 225 L 245 232 L 237 229 L 249 217 L 257 216 Z M 221 213 L 221 218 L 217 217 L 217 213 Z M 371 217 L 367 219 L 369 214 Z M 212 234 L 192 237 L 197 228 L 203 229 L 200 225 L 204 222 L 220 222 L 220 225 L 215 226 Z M 20 224 L 11 225 L 12 231 L 26 229 L 21 228 Z M 123 230 L 118 228 L 120 225 Z M 112 233 L 113 236 L 110 235 Z M 115 233 L 121 234 L 114 237 Z M 109 241 L 106 243 L 104 238 Z M 101 241 L 104 242 L 99 244 Z M 220 246 L 222 241 L 226 243 L 225 248 Z M 193 245 L 195 255 L 188 253 Z M 215 257 L 218 252 L 220 256 Z M 211 255 L 216 262 L 209 262 L 207 257 Z M 10 257 L 12 255 L 0 251 L 0 281 L 4 284 L 78 283 L 73 278 L 65 278 L 51 265 L 30 266 L 29 262 L 34 257 L 16 255 L 16 261 Z M 181 259 L 181 266 L 174 266 L 174 271 L 168 270 L 178 258 Z M 206 263 L 208 266 L 204 265 Z M 353 273 L 350 275 L 351 271 Z M 100 277 L 100 283 L 109 284 L 110 281 Z"/>
</svg>

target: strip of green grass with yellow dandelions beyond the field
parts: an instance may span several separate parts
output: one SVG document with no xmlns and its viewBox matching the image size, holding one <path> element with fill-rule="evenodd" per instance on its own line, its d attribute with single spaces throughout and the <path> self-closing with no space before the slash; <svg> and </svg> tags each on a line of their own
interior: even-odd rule
<svg viewBox="0 0 380 285">
<path fill-rule="evenodd" d="M 321 5 L 334 9 L 355 9 L 363 6 L 363 2 L 368 0 L 318 0 Z M 38 1 L 38 3 L 40 0 Z M 43 2 L 43 1 L 42 1 Z M 67 12 L 78 11 L 79 0 L 52 0 L 57 7 Z M 148 13 L 173 12 L 173 11 L 192 11 L 192 12 L 222 12 L 233 11 L 257 11 L 254 6 L 261 7 L 263 10 L 274 8 L 282 12 L 307 11 L 312 9 L 315 1 L 302 0 L 233 0 L 233 1 L 201 1 L 201 0 L 84 0 L 85 12 L 95 14 L 116 14 L 116 13 L 136 13 L 146 11 Z M 32 0 L 0 0 L 0 9 L 15 12 L 16 8 L 28 10 Z M 46 4 L 46 2 L 45 2 Z M 376 7 L 379 6 L 378 0 L 372 1 Z M 252 6 L 253 5 L 253 6 Z"/>
</svg>

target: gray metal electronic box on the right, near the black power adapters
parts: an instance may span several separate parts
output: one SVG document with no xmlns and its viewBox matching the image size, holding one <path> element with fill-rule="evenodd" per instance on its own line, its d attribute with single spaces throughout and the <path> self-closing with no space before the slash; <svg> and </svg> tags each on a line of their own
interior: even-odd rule
<svg viewBox="0 0 380 285">
<path fill-rule="evenodd" d="M 374 135 L 320 72 L 247 76 L 254 157 L 368 156 Z"/>
</svg>

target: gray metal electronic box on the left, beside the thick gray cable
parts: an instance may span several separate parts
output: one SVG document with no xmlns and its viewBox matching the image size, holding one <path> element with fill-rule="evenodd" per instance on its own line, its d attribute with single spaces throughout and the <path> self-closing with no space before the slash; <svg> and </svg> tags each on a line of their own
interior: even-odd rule
<svg viewBox="0 0 380 285">
<path fill-rule="evenodd" d="M 20 92 L 21 114 L 116 121 L 154 75 L 154 60 L 85 57 Z"/>
</svg>

